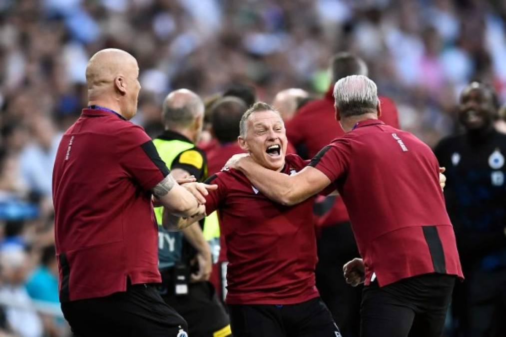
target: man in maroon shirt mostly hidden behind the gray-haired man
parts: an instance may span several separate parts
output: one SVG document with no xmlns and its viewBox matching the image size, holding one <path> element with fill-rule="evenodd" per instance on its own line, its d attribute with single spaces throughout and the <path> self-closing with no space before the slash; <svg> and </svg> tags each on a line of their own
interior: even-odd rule
<svg viewBox="0 0 506 337">
<path fill-rule="evenodd" d="M 368 71 L 361 58 L 350 53 L 338 53 L 332 58 L 330 72 L 332 83 L 335 83 L 349 75 L 367 75 Z M 335 120 L 333 88 L 331 85 L 323 98 L 304 105 L 286 124 L 288 140 L 309 157 L 314 157 L 333 139 L 344 135 L 339 122 Z M 384 96 L 378 98 L 381 104 L 379 119 L 399 128 L 393 101 Z M 318 239 L 316 284 L 343 334 L 358 336 L 361 289 L 350 289 L 343 279 L 341 267 L 359 253 L 342 198 L 338 196 L 334 201 L 325 201 L 330 205 L 332 202 L 333 206 L 329 210 L 327 207 L 327 213 L 317 224 L 321 227 L 321 235 Z"/>
</svg>

